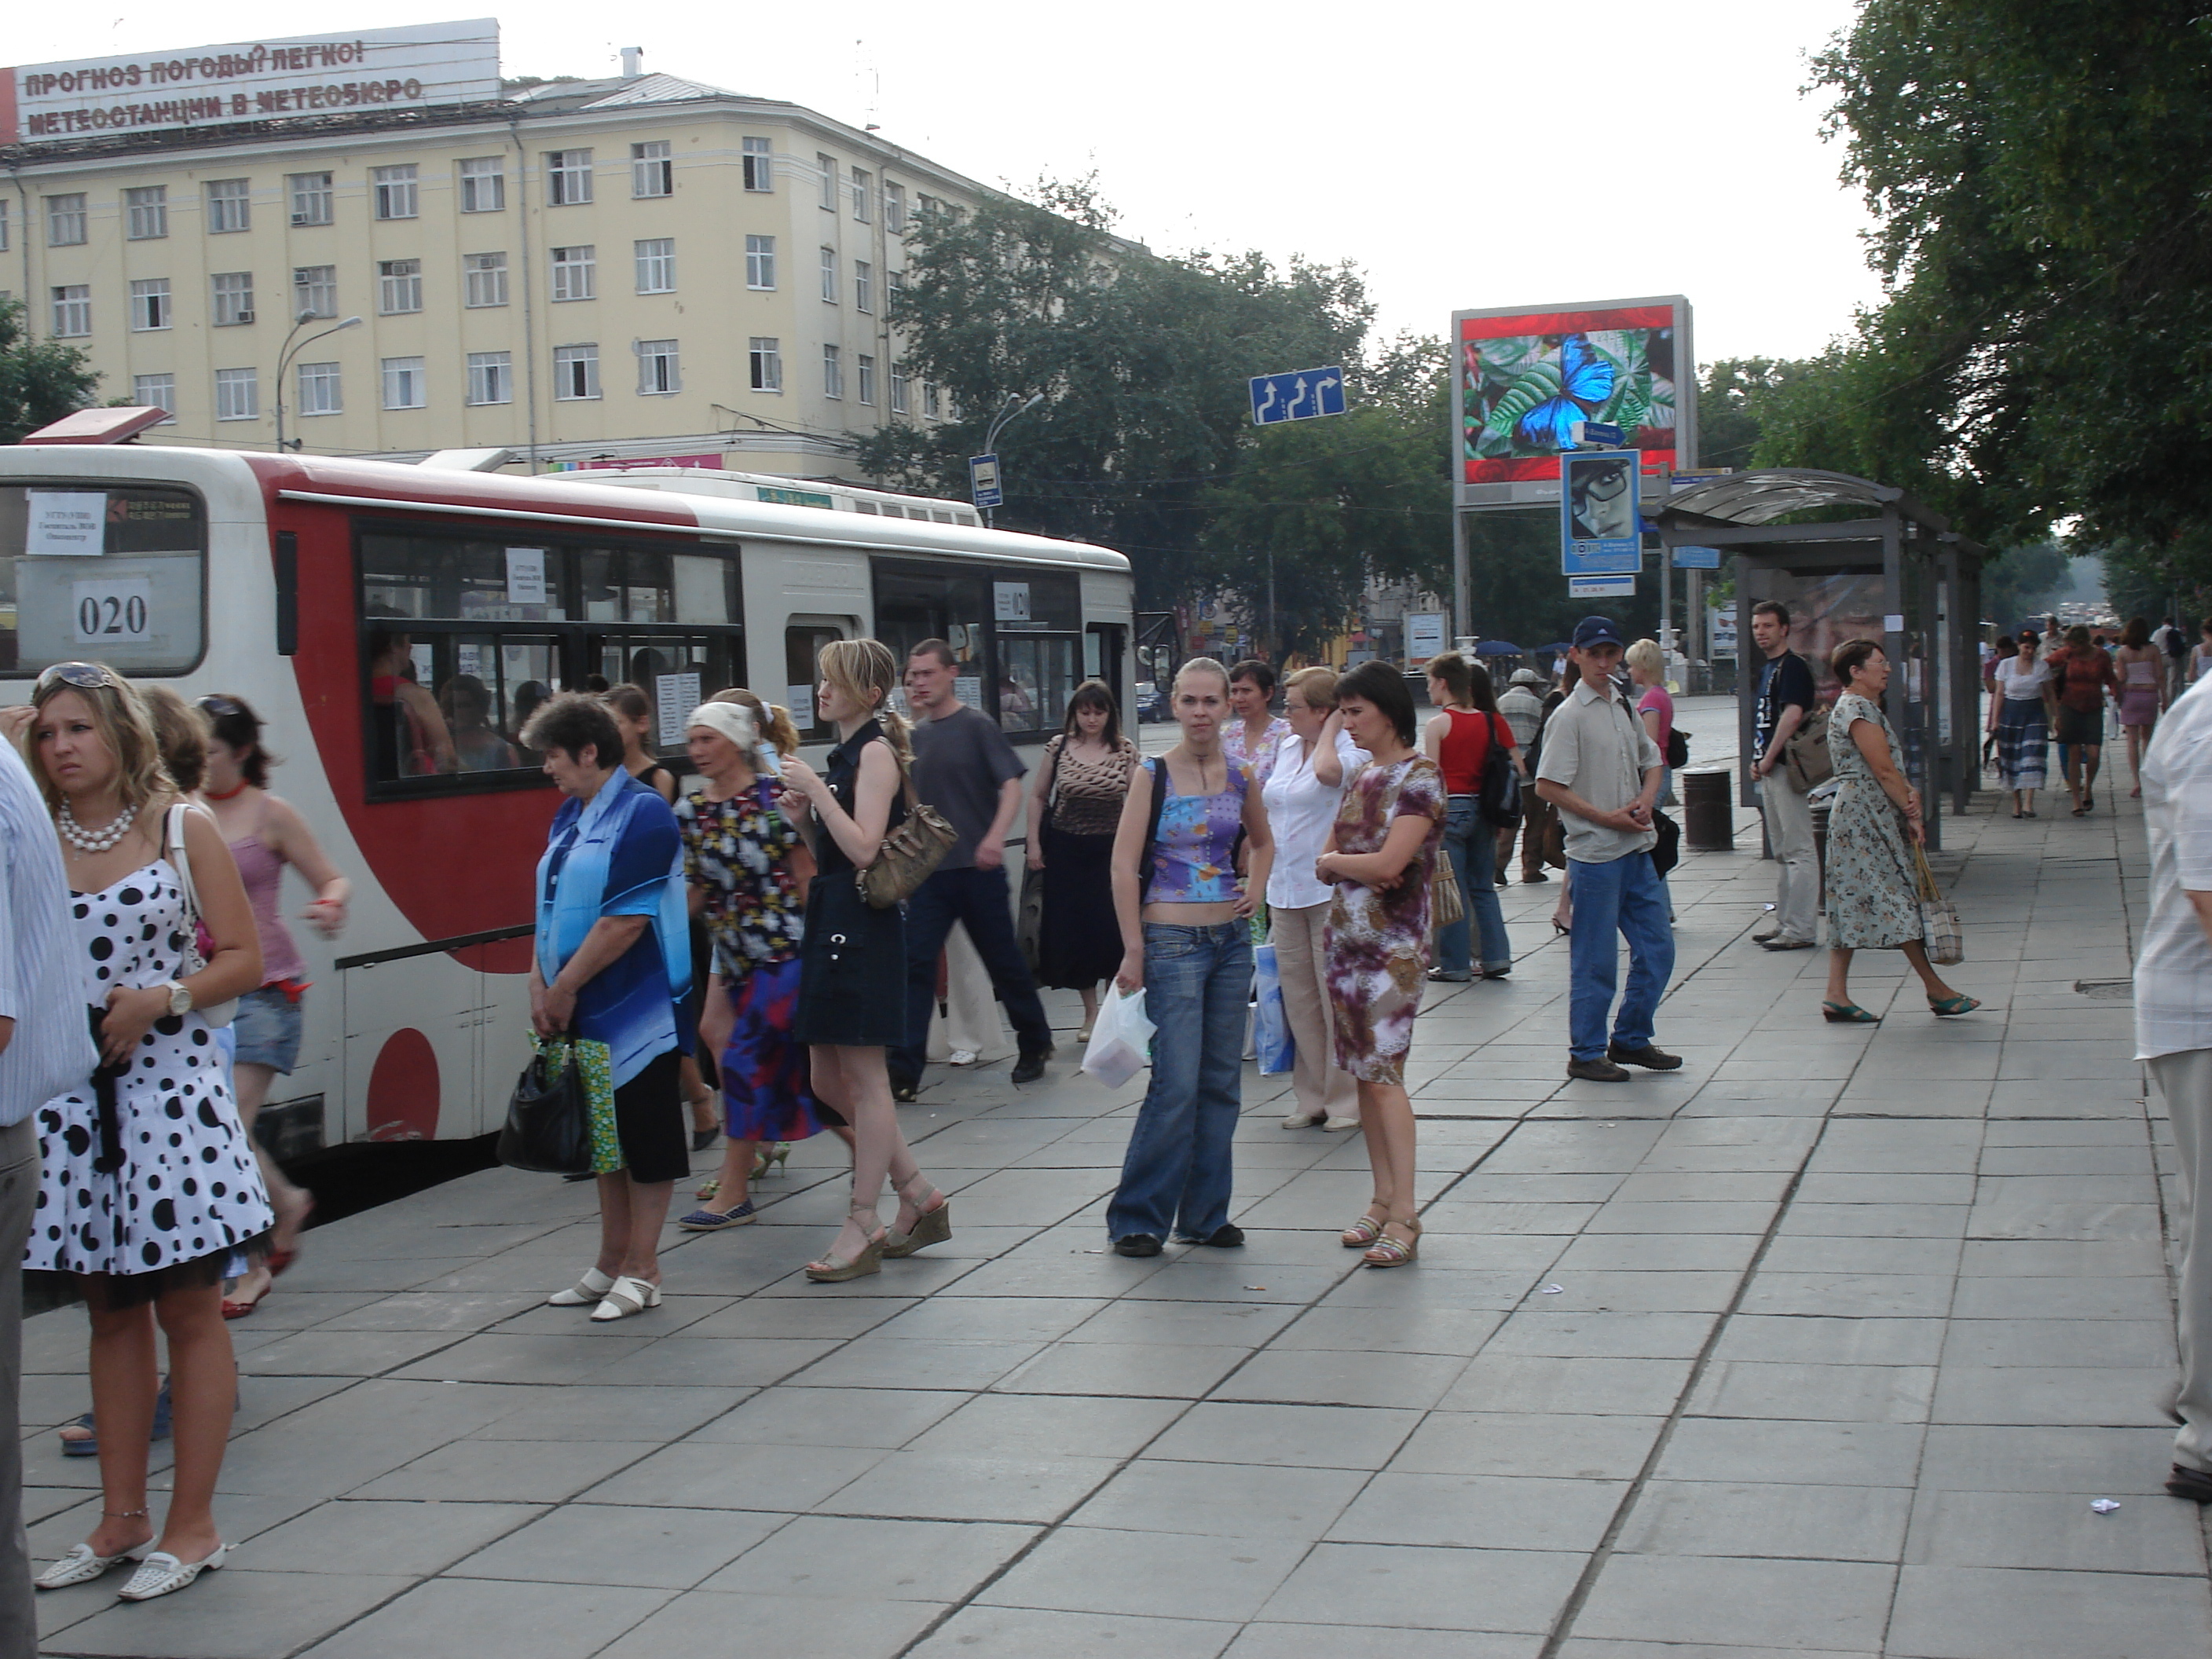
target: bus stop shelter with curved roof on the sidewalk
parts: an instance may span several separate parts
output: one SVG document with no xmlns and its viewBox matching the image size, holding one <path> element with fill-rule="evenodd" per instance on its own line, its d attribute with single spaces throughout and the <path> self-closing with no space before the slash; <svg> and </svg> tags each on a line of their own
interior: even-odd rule
<svg viewBox="0 0 2212 1659">
<path fill-rule="evenodd" d="M 1898 728 L 1905 776 L 1920 790 L 1929 845 L 1940 847 L 1942 796 L 1964 812 L 1982 781 L 1984 549 L 1900 489 L 1803 467 L 1674 491 L 1652 520 L 1668 568 L 1677 546 L 1717 546 L 1734 560 L 1743 799 L 1752 799 L 1759 699 L 1752 606 L 1778 599 L 1790 608 L 1790 648 L 1812 664 L 1825 706 L 1838 690 L 1829 653 L 1845 639 L 1882 641 L 1896 664 L 1885 712 Z"/>
</svg>

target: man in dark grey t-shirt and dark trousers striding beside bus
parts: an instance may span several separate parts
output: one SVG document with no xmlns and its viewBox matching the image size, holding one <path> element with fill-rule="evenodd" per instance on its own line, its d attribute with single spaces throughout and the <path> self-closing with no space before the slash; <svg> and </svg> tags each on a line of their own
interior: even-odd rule
<svg viewBox="0 0 2212 1659">
<path fill-rule="evenodd" d="M 889 1055 L 891 1097 L 902 1102 L 914 1099 L 922 1082 L 938 956 L 953 922 L 967 925 L 1013 1020 L 1020 1048 L 1013 1082 L 1035 1082 L 1053 1057 L 1053 1026 L 1022 960 L 1006 887 L 1006 827 L 1022 805 L 1026 768 L 998 723 L 960 701 L 953 661 L 942 639 L 925 639 L 907 657 L 914 794 L 942 812 L 960 838 L 907 900 L 907 1042 Z"/>
</svg>

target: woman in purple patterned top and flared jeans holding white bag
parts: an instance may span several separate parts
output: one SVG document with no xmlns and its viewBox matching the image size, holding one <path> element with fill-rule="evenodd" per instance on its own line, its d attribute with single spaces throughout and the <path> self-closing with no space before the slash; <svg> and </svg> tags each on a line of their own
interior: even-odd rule
<svg viewBox="0 0 2212 1659">
<path fill-rule="evenodd" d="M 1252 991 L 1250 918 L 1274 865 L 1274 834 L 1252 770 L 1221 748 L 1228 670 L 1192 657 L 1175 675 L 1170 706 L 1183 739 L 1144 761 L 1113 843 L 1115 984 L 1144 991 L 1157 1026 L 1152 1079 L 1106 1206 L 1106 1237 L 1121 1256 L 1157 1256 L 1170 1230 L 1223 1250 L 1243 1243 L 1230 1221 L 1230 1144 Z M 1239 832 L 1250 878 L 1237 876 Z"/>
</svg>

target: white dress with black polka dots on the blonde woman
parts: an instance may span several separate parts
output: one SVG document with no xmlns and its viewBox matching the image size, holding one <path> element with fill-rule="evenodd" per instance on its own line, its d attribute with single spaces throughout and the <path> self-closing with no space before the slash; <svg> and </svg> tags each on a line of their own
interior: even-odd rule
<svg viewBox="0 0 2212 1659">
<path fill-rule="evenodd" d="M 75 894 L 73 914 L 88 1006 L 117 984 L 150 989 L 179 978 L 188 920 L 166 863 Z M 44 1168 L 24 1267 L 159 1274 L 228 1256 L 274 1225 L 221 1051 L 199 1013 L 161 1015 L 139 1037 L 128 1073 L 115 1077 L 106 1152 L 100 1117 L 93 1084 L 40 1108 Z"/>
</svg>

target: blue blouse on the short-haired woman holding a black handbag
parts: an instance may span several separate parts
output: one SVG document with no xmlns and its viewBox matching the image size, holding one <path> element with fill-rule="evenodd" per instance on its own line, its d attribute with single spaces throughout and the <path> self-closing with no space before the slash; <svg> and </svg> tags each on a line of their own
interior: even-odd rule
<svg viewBox="0 0 2212 1659">
<path fill-rule="evenodd" d="M 677 814 L 659 790 L 619 768 L 591 801 L 568 799 L 553 814 L 538 860 L 538 971 L 546 984 L 602 916 L 650 918 L 575 998 L 575 1035 L 608 1046 L 622 1088 L 670 1048 L 690 1053 L 679 1018 L 690 995 L 690 931 Z"/>
</svg>

